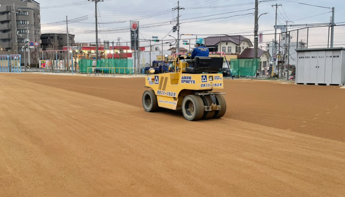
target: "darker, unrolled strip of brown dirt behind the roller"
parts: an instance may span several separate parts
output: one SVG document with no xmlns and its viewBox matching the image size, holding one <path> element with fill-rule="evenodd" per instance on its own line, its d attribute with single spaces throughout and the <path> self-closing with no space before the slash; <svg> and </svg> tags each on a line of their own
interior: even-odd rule
<svg viewBox="0 0 345 197">
<path fill-rule="evenodd" d="M 145 90 L 143 78 L 27 73 L 4 76 L 138 107 L 142 107 L 141 96 Z M 345 91 L 339 87 L 258 80 L 225 80 L 224 84 L 228 105 L 226 118 L 345 142 Z M 335 109 L 335 105 L 338 108 Z M 168 110 L 166 113 L 180 116 L 179 112 Z M 319 114 L 317 119 L 314 119 L 315 114 Z"/>
</svg>

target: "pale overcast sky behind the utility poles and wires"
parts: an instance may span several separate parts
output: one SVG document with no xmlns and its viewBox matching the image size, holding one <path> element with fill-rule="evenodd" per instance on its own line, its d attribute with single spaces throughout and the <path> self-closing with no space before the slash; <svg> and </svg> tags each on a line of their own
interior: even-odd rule
<svg viewBox="0 0 345 197">
<path fill-rule="evenodd" d="M 44 24 L 66 20 L 66 15 L 69 19 L 88 16 L 85 21 L 69 24 L 69 28 L 72 30 L 71 33 L 75 34 L 76 42 L 95 42 L 94 33 L 85 33 L 85 31 L 95 30 L 95 3 L 87 2 L 87 0 L 37 1 L 41 7 L 42 33 L 64 31 L 66 25 L 44 27 Z M 272 5 L 276 3 L 282 4 L 278 9 L 278 24 L 285 24 L 286 20 L 292 21 L 289 24 L 329 23 L 330 9 L 303 5 L 299 2 L 335 7 L 335 22 L 345 22 L 344 0 L 266 0 L 259 3 L 259 14 L 268 13 L 260 17 L 259 32 L 274 33 L 275 10 Z M 175 24 L 173 20 L 177 16 L 177 11 L 172 11 L 172 8 L 176 6 L 177 0 L 104 0 L 104 2 L 98 3 L 101 15 L 99 22 L 112 23 L 100 24 L 99 30 L 110 29 L 110 31 L 106 34 L 99 33 L 99 38 L 102 41 L 116 42 L 117 37 L 120 37 L 122 42 L 129 41 L 130 33 L 126 31 L 130 26 L 129 20 L 133 19 L 138 19 L 139 27 L 144 26 L 139 30 L 140 38 L 150 39 L 151 36 L 158 36 L 162 39 L 167 34 L 176 37 L 177 33 L 170 33 L 173 28 L 170 21 Z M 253 39 L 251 35 L 253 34 L 254 15 L 251 13 L 254 13 L 254 0 L 180 0 L 180 6 L 185 8 L 180 11 L 181 33 L 242 34 Z M 317 33 L 327 37 L 328 28 L 316 31 L 314 34 Z M 336 33 L 345 34 L 342 31 Z M 182 36 L 182 39 L 190 37 Z M 265 35 L 264 42 L 272 41 L 273 37 L 273 35 Z M 300 37 L 303 38 L 302 35 Z M 165 39 L 171 39 L 171 37 L 168 36 Z M 345 39 L 339 41 L 345 43 Z"/>
</svg>

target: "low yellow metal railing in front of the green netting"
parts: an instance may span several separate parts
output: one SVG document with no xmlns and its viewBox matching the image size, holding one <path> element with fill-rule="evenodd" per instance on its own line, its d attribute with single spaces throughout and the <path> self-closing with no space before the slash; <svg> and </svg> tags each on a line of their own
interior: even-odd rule
<svg viewBox="0 0 345 197">
<path fill-rule="evenodd" d="M 87 68 L 87 75 L 91 75 L 95 73 L 95 75 L 107 75 L 107 76 L 115 76 L 115 75 L 133 75 L 137 76 L 137 68 L 127 68 L 127 67 L 88 67 Z"/>
</svg>

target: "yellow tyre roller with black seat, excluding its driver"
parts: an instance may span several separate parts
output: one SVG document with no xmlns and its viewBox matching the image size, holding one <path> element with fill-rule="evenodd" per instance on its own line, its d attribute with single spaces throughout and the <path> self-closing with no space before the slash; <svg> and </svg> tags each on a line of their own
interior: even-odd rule
<svg viewBox="0 0 345 197">
<path fill-rule="evenodd" d="M 181 110 L 189 121 L 221 118 L 226 112 L 226 102 L 217 92 L 224 87 L 223 57 L 184 57 L 174 55 L 169 72 L 153 74 L 145 79 L 142 106 L 147 112 L 160 108 Z M 151 74 L 152 73 L 152 74 Z"/>
</svg>

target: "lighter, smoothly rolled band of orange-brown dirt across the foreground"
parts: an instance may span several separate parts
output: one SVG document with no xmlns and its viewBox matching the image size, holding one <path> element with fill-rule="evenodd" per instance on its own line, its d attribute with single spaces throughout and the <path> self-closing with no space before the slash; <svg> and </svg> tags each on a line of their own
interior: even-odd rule
<svg viewBox="0 0 345 197">
<path fill-rule="evenodd" d="M 0 84 L 0 196 L 345 195 L 344 142 Z"/>
</svg>

